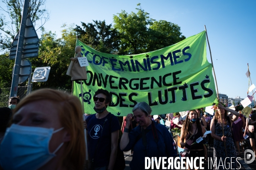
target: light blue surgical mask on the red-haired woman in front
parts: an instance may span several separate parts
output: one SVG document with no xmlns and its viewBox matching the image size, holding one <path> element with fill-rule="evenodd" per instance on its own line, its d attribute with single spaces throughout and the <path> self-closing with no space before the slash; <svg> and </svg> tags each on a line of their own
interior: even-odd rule
<svg viewBox="0 0 256 170">
<path fill-rule="evenodd" d="M 55 157 L 49 152 L 49 142 L 53 135 L 64 127 L 53 128 L 27 127 L 12 124 L 7 128 L 0 146 L 0 164 L 4 170 L 37 170 Z"/>
</svg>

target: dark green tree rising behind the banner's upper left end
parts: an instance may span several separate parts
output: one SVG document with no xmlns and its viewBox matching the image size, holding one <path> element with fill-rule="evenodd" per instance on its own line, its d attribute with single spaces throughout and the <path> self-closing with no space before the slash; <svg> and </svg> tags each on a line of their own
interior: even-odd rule
<svg viewBox="0 0 256 170">
<path fill-rule="evenodd" d="M 106 25 L 104 21 L 93 20 L 93 23 L 82 23 L 82 27 L 76 26 L 77 37 L 83 43 L 100 52 L 116 54 L 119 47 L 119 36 L 112 24 Z"/>
</svg>

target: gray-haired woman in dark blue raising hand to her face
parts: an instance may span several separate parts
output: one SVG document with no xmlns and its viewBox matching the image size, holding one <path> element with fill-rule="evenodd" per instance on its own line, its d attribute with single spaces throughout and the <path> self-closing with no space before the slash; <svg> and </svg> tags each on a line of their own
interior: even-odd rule
<svg viewBox="0 0 256 170">
<path fill-rule="evenodd" d="M 150 119 L 150 106 L 146 102 L 140 102 L 132 112 L 133 114 L 129 113 L 126 117 L 126 127 L 120 142 L 121 150 L 128 151 L 134 147 L 131 170 L 144 170 L 145 157 L 176 157 L 173 138 L 164 125 L 156 124 Z M 129 133 L 133 117 L 139 125 Z"/>
</svg>

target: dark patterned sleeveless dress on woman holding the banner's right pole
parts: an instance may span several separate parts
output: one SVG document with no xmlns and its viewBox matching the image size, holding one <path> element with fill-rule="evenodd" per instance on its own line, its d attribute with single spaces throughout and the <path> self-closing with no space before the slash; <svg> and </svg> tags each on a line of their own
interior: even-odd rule
<svg viewBox="0 0 256 170">
<path fill-rule="evenodd" d="M 223 128 L 224 128 L 224 135 L 227 137 L 226 138 L 226 150 L 227 150 L 226 167 L 227 168 L 225 168 L 225 165 L 224 165 L 225 158 L 226 158 L 224 142 L 214 139 L 213 158 L 214 158 L 214 160 L 216 160 L 216 158 L 217 158 L 217 166 L 215 164 L 214 170 L 231 169 L 231 167 L 230 167 L 231 157 L 232 157 L 232 164 L 231 164 L 232 168 L 233 169 L 237 168 L 236 150 L 235 150 L 234 141 L 232 139 L 230 124 L 227 123 L 227 125 Z M 218 123 L 215 125 L 215 134 L 218 136 L 222 136 L 222 134 L 223 134 L 222 127 Z M 223 166 L 221 166 L 221 165 L 223 165 Z"/>
</svg>

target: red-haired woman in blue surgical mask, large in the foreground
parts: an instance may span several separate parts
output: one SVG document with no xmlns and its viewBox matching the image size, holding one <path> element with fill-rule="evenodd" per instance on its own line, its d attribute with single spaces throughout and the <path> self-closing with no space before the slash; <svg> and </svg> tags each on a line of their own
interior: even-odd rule
<svg viewBox="0 0 256 170">
<path fill-rule="evenodd" d="M 85 136 L 82 106 L 73 95 L 39 89 L 13 111 L 1 143 L 4 170 L 82 170 Z"/>
</svg>

